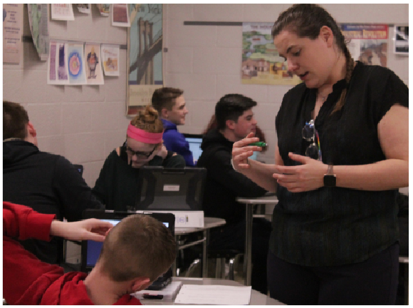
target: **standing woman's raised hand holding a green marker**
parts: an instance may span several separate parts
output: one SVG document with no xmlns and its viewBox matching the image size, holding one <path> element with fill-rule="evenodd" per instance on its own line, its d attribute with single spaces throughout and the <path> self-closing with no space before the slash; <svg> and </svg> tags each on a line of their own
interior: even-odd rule
<svg viewBox="0 0 413 308">
<path fill-rule="evenodd" d="M 257 141 L 259 141 L 259 138 L 253 137 L 253 132 L 251 132 L 246 138 L 232 145 L 232 166 L 235 170 L 250 167 L 248 158 L 253 155 L 254 151 L 261 151 L 261 147 L 249 144 Z"/>
</svg>

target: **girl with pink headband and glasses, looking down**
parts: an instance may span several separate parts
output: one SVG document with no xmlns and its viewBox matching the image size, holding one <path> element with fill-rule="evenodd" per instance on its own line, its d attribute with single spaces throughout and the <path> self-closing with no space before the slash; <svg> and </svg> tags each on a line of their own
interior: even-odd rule
<svg viewBox="0 0 413 308">
<path fill-rule="evenodd" d="M 152 106 L 140 110 L 127 127 L 125 143 L 106 158 L 93 193 L 107 210 L 134 210 L 139 168 L 184 168 L 181 155 L 162 145 L 162 121 Z"/>
</svg>

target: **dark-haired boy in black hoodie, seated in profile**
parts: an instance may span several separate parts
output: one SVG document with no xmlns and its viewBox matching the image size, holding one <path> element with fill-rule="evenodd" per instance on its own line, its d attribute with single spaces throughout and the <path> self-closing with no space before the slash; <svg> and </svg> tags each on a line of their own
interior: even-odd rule
<svg viewBox="0 0 413 308">
<path fill-rule="evenodd" d="M 217 127 L 202 140 L 202 154 L 197 167 L 207 170 L 202 208 L 205 216 L 226 220 L 226 225 L 210 230 L 209 248 L 244 252 L 246 238 L 245 205 L 236 197 L 261 197 L 266 190 L 253 183 L 231 166 L 234 142 L 256 132 L 252 108 L 256 101 L 240 94 L 223 96 L 215 106 Z M 252 288 L 267 294 L 266 260 L 271 222 L 253 219 Z"/>
</svg>

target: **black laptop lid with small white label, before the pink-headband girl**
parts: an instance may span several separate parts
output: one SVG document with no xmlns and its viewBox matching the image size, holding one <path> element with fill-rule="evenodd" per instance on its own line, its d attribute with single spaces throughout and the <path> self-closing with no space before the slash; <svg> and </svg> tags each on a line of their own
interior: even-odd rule
<svg viewBox="0 0 413 308">
<path fill-rule="evenodd" d="M 137 180 L 135 210 L 202 210 L 205 168 L 144 166 Z"/>
</svg>

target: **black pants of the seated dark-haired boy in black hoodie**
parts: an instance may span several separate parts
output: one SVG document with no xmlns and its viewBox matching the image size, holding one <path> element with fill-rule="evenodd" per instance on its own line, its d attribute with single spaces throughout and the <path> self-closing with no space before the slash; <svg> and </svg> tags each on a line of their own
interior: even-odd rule
<svg viewBox="0 0 413 308">
<path fill-rule="evenodd" d="M 267 294 L 266 265 L 270 234 L 271 222 L 263 218 L 253 218 L 251 287 L 263 294 Z M 213 228 L 209 235 L 209 249 L 229 249 L 240 252 L 245 250 L 245 220 L 221 228 Z"/>
</svg>

